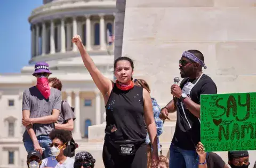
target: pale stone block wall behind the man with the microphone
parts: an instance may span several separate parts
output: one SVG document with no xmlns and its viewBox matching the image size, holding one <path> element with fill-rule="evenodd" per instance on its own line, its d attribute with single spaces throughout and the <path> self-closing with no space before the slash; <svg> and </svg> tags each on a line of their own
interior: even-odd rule
<svg viewBox="0 0 256 168">
<path fill-rule="evenodd" d="M 180 76 L 181 54 L 190 49 L 204 54 L 204 73 L 218 93 L 255 92 L 255 6 L 256 0 L 129 0 L 122 56 L 134 60 L 134 77 L 146 79 L 163 106 L 172 99 L 173 78 Z M 164 143 L 173 133 L 173 124 L 166 124 Z M 227 161 L 227 152 L 219 154 Z M 250 167 L 255 154 L 250 151 Z"/>
</svg>

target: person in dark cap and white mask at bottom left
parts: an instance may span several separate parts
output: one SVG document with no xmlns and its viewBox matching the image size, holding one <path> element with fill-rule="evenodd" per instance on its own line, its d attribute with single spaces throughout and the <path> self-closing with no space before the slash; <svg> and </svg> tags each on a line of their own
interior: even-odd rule
<svg viewBox="0 0 256 168">
<path fill-rule="evenodd" d="M 28 168 L 39 168 L 42 164 L 42 155 L 39 151 L 33 150 L 28 153 L 27 156 L 27 165 Z"/>
</svg>

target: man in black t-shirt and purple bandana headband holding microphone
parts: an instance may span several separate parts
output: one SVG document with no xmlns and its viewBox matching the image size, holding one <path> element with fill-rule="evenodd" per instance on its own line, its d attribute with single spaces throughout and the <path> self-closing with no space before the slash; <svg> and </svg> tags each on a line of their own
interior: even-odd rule
<svg viewBox="0 0 256 168">
<path fill-rule="evenodd" d="M 173 100 L 161 110 L 165 120 L 169 113 L 177 111 L 177 122 L 170 146 L 170 168 L 195 168 L 196 145 L 200 141 L 200 95 L 216 94 L 217 86 L 211 77 L 203 74 L 206 69 L 204 55 L 198 50 L 183 52 L 179 61 L 180 86 L 173 84 Z"/>
</svg>

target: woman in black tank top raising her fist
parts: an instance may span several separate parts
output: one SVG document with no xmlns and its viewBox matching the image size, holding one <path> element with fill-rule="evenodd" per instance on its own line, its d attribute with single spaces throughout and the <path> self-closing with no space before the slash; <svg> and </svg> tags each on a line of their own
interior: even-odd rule
<svg viewBox="0 0 256 168">
<path fill-rule="evenodd" d="M 84 65 L 105 101 L 107 125 L 102 155 L 105 167 L 147 167 L 146 125 L 153 146 L 152 167 L 157 167 L 157 134 L 152 102 L 149 92 L 135 86 L 132 81 L 133 61 L 127 57 L 115 60 L 117 81 L 114 83 L 100 73 L 80 36 L 74 36 L 72 42 L 77 45 Z"/>
</svg>

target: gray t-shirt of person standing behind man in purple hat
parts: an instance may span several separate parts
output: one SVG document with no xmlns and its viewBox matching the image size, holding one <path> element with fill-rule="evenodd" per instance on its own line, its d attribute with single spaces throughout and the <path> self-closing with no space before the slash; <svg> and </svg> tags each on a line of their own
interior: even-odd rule
<svg viewBox="0 0 256 168">
<path fill-rule="evenodd" d="M 58 117 L 57 123 L 58 124 L 66 124 L 69 119 L 75 119 L 75 115 L 71 107 L 69 106 L 69 103 L 67 101 L 63 101 L 62 108 L 60 111 L 60 115 Z"/>
</svg>

